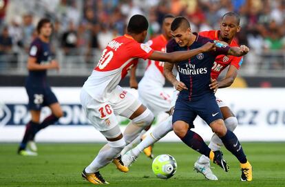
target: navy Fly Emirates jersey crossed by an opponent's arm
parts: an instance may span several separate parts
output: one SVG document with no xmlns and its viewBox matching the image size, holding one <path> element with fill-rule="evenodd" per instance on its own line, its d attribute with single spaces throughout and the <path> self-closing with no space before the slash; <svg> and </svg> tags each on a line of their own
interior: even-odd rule
<svg viewBox="0 0 285 187">
<path fill-rule="evenodd" d="M 167 43 L 167 52 L 193 50 L 200 48 L 208 41 L 213 42 L 213 40 L 202 37 L 197 33 L 193 34 L 196 35 L 196 40 L 191 46 L 180 47 L 175 39 L 171 39 Z M 215 57 L 218 55 L 226 55 L 229 48 L 229 46 L 222 45 L 220 48 L 216 47 L 215 51 L 203 52 L 191 59 L 177 62 L 176 68 L 179 73 L 180 81 L 188 88 L 188 90 L 182 90 L 180 92 L 178 99 L 195 101 L 205 94 L 213 94 L 213 90 L 209 88 L 209 84 L 211 83 L 211 68 Z"/>
</svg>

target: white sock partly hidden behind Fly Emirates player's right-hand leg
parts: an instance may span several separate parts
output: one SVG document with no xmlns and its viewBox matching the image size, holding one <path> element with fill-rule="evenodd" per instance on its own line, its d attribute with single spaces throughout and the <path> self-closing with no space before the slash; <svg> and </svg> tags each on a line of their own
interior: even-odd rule
<svg viewBox="0 0 285 187">
<path fill-rule="evenodd" d="M 228 117 L 224 119 L 224 124 L 226 125 L 227 129 L 233 131 L 237 127 L 237 118 Z M 217 135 L 213 134 L 209 144 L 209 148 L 215 151 L 215 150 L 220 150 L 222 146 L 224 146 L 224 144 L 222 144 L 222 140 Z"/>
</svg>

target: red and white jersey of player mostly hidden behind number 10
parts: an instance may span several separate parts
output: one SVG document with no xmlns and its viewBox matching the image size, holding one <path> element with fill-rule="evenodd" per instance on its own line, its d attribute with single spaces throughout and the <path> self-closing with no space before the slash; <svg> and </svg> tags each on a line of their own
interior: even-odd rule
<svg viewBox="0 0 285 187">
<path fill-rule="evenodd" d="M 165 52 L 167 45 L 167 39 L 163 35 L 159 35 L 154 39 L 147 41 L 146 43 L 154 50 Z M 147 63 L 147 68 L 145 70 L 145 75 L 140 81 L 140 86 L 161 86 L 165 85 L 165 76 L 163 75 L 163 66 L 165 62 L 149 60 Z"/>
</svg>

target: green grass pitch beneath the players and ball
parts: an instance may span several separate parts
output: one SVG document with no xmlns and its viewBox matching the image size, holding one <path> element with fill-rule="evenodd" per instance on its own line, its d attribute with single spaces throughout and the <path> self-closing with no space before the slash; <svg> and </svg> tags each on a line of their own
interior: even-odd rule
<svg viewBox="0 0 285 187">
<path fill-rule="evenodd" d="M 167 153 L 176 158 L 178 171 L 171 179 L 154 176 L 151 160 L 140 155 L 129 173 L 120 173 L 114 164 L 101 170 L 108 186 L 285 186 L 285 143 L 243 143 L 253 165 L 253 181 L 240 181 L 237 160 L 223 150 L 229 161 L 229 173 L 218 166 L 213 172 L 219 181 L 207 181 L 193 171 L 199 156 L 184 144 L 158 143 L 154 153 Z M 38 157 L 16 154 L 17 144 L 0 144 L 0 186 L 92 186 L 81 179 L 81 171 L 92 161 L 103 144 L 38 144 Z"/>
</svg>

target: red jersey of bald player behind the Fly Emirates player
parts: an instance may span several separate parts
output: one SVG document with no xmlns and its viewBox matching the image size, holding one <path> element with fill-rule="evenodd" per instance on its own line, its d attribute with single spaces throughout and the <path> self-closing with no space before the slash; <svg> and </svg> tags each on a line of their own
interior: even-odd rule
<svg viewBox="0 0 285 187">
<path fill-rule="evenodd" d="M 213 40 L 219 40 L 220 30 L 209 30 L 199 32 L 199 35 L 203 37 L 207 37 Z M 237 41 L 233 39 L 229 44 L 231 47 L 238 47 Z M 219 55 L 215 58 L 215 62 L 213 63 L 213 67 L 211 70 L 211 77 L 213 79 L 218 79 L 220 72 L 226 68 L 226 66 L 232 65 L 235 68 L 240 69 L 240 65 L 242 65 L 243 57 L 234 57 L 234 56 L 226 56 L 226 55 Z"/>
</svg>

